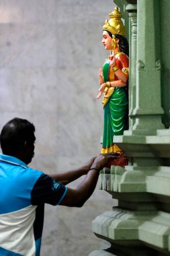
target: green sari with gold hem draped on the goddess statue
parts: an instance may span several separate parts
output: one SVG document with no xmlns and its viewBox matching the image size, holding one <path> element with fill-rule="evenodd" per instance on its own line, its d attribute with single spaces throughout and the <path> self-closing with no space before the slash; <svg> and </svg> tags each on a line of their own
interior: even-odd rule
<svg viewBox="0 0 170 256">
<path fill-rule="evenodd" d="M 103 64 L 103 80 L 114 81 L 114 71 L 110 60 Z M 122 152 L 114 143 L 114 135 L 123 135 L 128 121 L 128 97 L 125 87 L 114 88 L 114 92 L 104 106 L 103 143 L 101 153 Z"/>
</svg>

